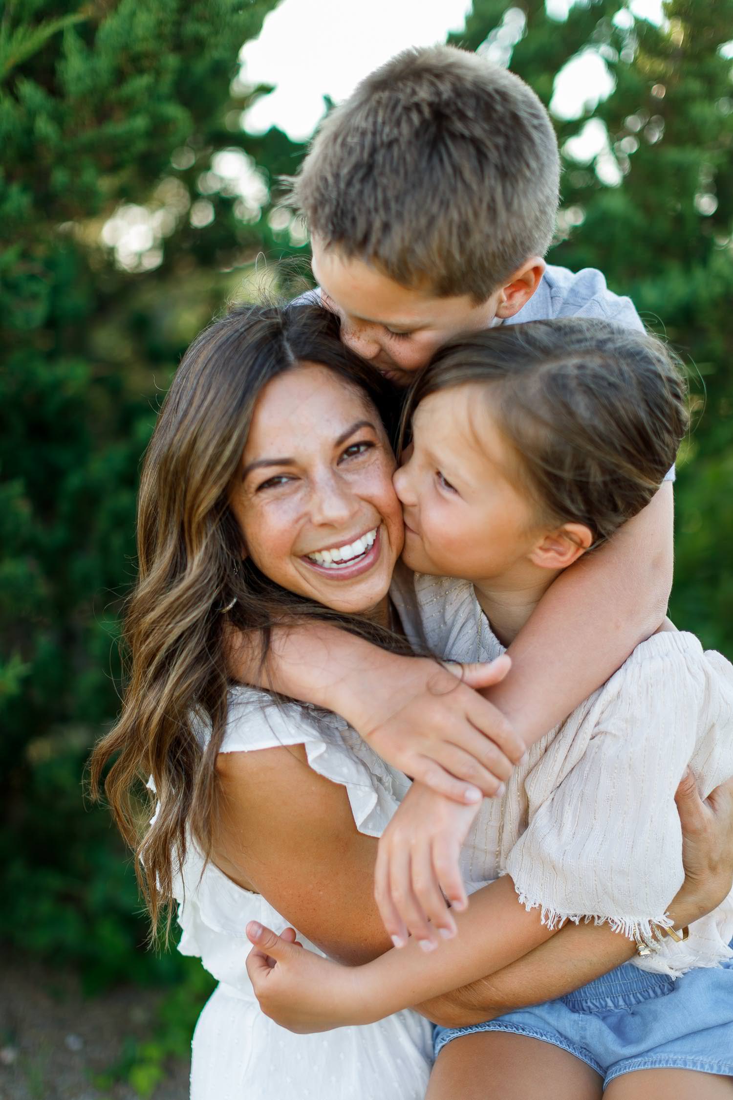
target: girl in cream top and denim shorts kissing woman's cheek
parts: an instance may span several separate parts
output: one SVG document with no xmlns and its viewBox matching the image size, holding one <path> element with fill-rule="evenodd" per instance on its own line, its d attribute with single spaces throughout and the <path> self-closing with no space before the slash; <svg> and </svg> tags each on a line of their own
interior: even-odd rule
<svg viewBox="0 0 733 1100">
<path fill-rule="evenodd" d="M 644 507 L 686 427 L 660 345 L 578 319 L 452 342 L 408 415 L 412 452 L 396 485 L 419 615 L 401 612 L 412 635 L 457 660 L 498 656 L 562 570 Z M 448 571 L 463 580 L 434 579 Z M 731 666 L 690 635 L 657 634 L 530 749 L 501 802 L 438 817 L 453 845 L 470 827 L 469 889 L 497 880 L 444 924 L 457 938 L 419 949 L 437 943 L 424 921 L 444 920 L 437 886 L 455 884 L 435 826 L 445 805 L 415 784 L 382 840 L 377 890 L 396 943 L 407 931 L 420 943 L 344 969 L 255 924 L 263 1008 L 298 1030 L 371 1021 L 592 919 L 625 934 L 636 965 L 534 1010 L 438 1028 L 445 1054 L 429 1096 L 560 1097 L 568 1081 L 577 1097 L 733 1096 L 733 898 L 673 938 L 665 901 L 682 876 L 675 789 L 688 765 L 706 791 L 730 774 L 732 726 Z M 502 890 L 523 905 L 506 926 Z"/>
</svg>

